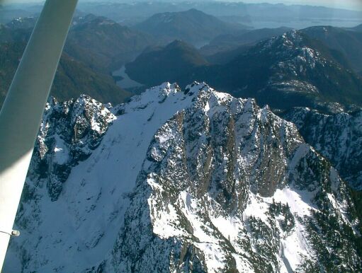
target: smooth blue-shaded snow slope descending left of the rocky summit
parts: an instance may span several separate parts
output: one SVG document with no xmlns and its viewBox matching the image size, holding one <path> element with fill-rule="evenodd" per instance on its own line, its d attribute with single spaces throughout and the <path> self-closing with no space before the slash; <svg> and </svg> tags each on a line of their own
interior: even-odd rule
<svg viewBox="0 0 362 273">
<path fill-rule="evenodd" d="M 150 89 L 140 97 L 134 97 L 128 105 L 121 105 L 118 113 L 123 112 L 123 115 L 114 120 L 98 149 L 93 151 L 86 161 L 74 166 L 69 177 L 62 180 L 67 182 L 63 184 L 64 189 L 57 202 L 52 202 L 55 199 L 53 194 L 47 194 L 58 189 L 58 186 L 52 185 L 55 183 L 47 181 L 49 178 L 51 181 L 60 180 L 52 179 L 56 176 L 54 164 L 50 164 L 47 173 L 49 178 L 42 178 L 41 165 L 44 163 L 33 163 L 36 164 L 33 170 L 39 169 L 40 175 L 35 179 L 28 179 L 27 192 L 31 192 L 33 196 L 28 198 L 29 202 L 24 203 L 21 209 L 21 222 L 33 226 L 29 230 L 21 228 L 22 239 L 25 242 L 14 241 L 19 243 L 14 244 L 15 248 L 21 248 L 21 245 L 26 243 L 28 250 L 38 252 L 36 260 L 28 261 L 28 267 L 43 272 L 64 272 L 71 266 L 74 272 L 79 272 L 101 260 L 102 256 L 99 257 L 99 253 L 106 254 L 111 250 L 118 228 L 123 222 L 124 209 L 128 203 L 127 193 L 135 186 L 137 174 L 153 134 L 177 110 L 191 103 L 192 96 L 176 91 L 176 86 L 165 83 L 163 86 Z M 162 101 L 165 99 L 167 103 L 163 107 Z M 62 105 L 56 106 L 60 108 Z M 67 111 L 69 110 L 64 110 Z M 70 115 L 79 119 L 80 111 L 73 108 Z M 103 111 L 106 115 L 112 116 L 111 120 L 115 118 L 106 108 Z M 52 124 L 52 120 L 47 119 L 48 112 L 52 112 L 52 105 L 47 106 L 42 128 L 57 129 L 58 124 Z M 104 114 L 100 111 L 97 115 Z M 92 120 L 94 115 L 90 114 L 87 118 Z M 93 127 L 97 127 L 96 124 L 93 124 Z M 60 162 L 58 158 L 72 158 L 74 152 L 60 147 L 65 146 L 64 135 L 73 134 L 73 130 L 77 135 L 78 131 L 72 127 L 60 130 L 60 135 L 54 136 L 55 144 L 49 145 L 54 151 L 50 153 L 50 157 L 52 161 L 57 161 L 57 168 L 68 168 L 67 160 Z M 47 142 L 52 136 L 44 133 L 40 134 L 39 138 L 40 142 Z M 74 140 L 69 142 L 72 143 Z M 80 142 L 86 144 L 89 141 L 85 139 Z M 35 217 L 38 221 L 33 221 L 32 214 L 41 216 L 39 219 Z M 98 243 L 100 239 L 102 240 Z M 80 257 L 79 252 L 84 255 Z M 23 253 L 18 254 L 22 255 L 23 260 Z M 74 260 L 76 256 L 78 257 Z M 31 265 L 32 263 L 34 265 Z"/>
</svg>

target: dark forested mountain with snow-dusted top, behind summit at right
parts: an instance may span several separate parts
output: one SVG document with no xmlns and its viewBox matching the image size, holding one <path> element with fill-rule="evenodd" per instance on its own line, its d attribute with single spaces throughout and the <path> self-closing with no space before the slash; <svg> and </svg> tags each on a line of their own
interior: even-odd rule
<svg viewBox="0 0 362 273">
<path fill-rule="evenodd" d="M 196 55 L 196 49 L 193 49 Z M 135 62 L 128 64 L 131 78 L 145 84 L 154 84 L 152 76 L 142 74 L 145 52 Z M 165 71 L 157 62 L 149 60 L 147 68 Z M 142 56 L 143 55 L 143 56 Z M 168 62 L 181 62 L 181 54 Z M 205 61 L 206 62 L 206 61 Z M 159 81 L 165 81 L 162 73 Z M 237 54 L 230 62 L 221 65 L 197 66 L 189 73 L 175 71 L 171 76 L 179 83 L 208 81 L 223 91 L 239 97 L 254 97 L 261 104 L 273 108 L 293 106 L 321 106 L 324 103 L 362 104 L 362 81 L 351 71 L 349 60 L 343 53 L 330 49 L 323 42 L 309 37 L 302 31 L 290 31 L 278 37 L 259 42 Z"/>
</svg>

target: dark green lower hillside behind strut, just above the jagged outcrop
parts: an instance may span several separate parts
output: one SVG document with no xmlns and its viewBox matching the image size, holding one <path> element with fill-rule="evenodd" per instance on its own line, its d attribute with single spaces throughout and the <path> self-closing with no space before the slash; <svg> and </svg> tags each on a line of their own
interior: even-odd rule
<svg viewBox="0 0 362 273">
<path fill-rule="evenodd" d="M 24 42 L 0 43 L 0 105 L 4 102 L 25 47 Z M 82 93 L 92 95 L 103 103 L 121 103 L 130 96 L 115 85 L 111 76 L 93 71 L 69 55 L 62 54 L 50 94 L 60 100 L 69 100 Z"/>
</svg>

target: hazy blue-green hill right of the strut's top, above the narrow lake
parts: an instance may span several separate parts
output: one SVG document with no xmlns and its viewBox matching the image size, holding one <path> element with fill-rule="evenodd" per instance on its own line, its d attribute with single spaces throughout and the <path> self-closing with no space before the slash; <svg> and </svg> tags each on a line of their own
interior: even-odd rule
<svg viewBox="0 0 362 273">
<path fill-rule="evenodd" d="M 74 20 L 64 51 L 92 69 L 108 72 L 154 43 L 150 35 L 89 14 Z"/>
</svg>

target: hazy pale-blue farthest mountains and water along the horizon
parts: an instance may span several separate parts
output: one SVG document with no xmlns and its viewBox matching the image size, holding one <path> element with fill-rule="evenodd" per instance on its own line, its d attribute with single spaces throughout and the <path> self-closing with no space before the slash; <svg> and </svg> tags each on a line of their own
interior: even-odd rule
<svg viewBox="0 0 362 273">
<path fill-rule="evenodd" d="M 134 25 L 154 13 L 179 12 L 196 8 L 217 16 L 222 21 L 242 23 L 253 28 L 307 28 L 312 25 L 353 26 L 362 23 L 361 11 L 350 11 L 322 6 L 285 4 L 248 4 L 227 1 L 140 1 L 132 3 L 79 2 L 85 13 L 106 16 L 114 21 Z"/>
</svg>

